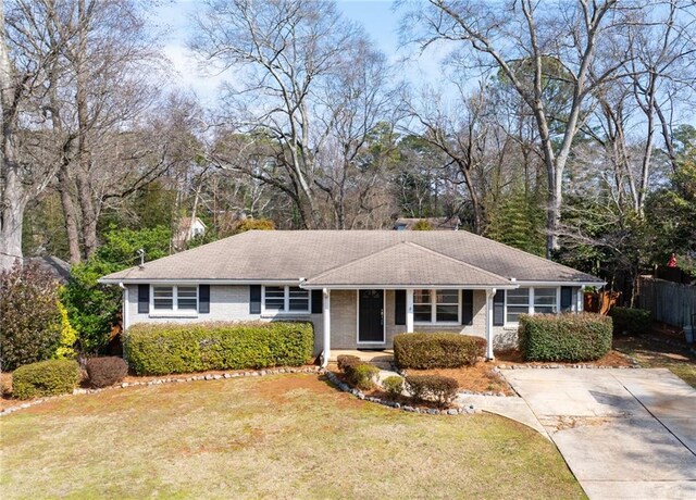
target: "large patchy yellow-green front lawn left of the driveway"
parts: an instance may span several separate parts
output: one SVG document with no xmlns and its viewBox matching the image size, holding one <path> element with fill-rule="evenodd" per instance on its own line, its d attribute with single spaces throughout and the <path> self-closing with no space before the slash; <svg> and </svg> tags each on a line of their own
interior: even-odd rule
<svg viewBox="0 0 696 500">
<path fill-rule="evenodd" d="M 395 411 L 315 375 L 67 397 L 0 425 L 3 499 L 584 498 L 521 424 Z"/>
</svg>

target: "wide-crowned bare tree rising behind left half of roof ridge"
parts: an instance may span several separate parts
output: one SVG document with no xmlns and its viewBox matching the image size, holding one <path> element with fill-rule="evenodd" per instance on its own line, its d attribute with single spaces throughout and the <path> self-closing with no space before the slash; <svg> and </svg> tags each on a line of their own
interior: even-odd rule
<svg viewBox="0 0 696 500">
<path fill-rule="evenodd" d="M 197 20 L 197 32 L 192 47 L 198 53 L 221 71 L 235 71 L 224 101 L 234 113 L 226 113 L 224 120 L 236 133 L 274 150 L 269 167 L 246 168 L 246 173 L 285 192 L 296 207 L 300 226 L 326 225 L 316 191 L 330 191 L 338 200 L 340 189 L 322 180 L 323 148 L 350 113 L 349 105 L 378 104 L 371 97 L 373 82 L 365 78 L 375 59 L 365 50 L 364 34 L 345 21 L 332 2 L 298 0 L 210 0 Z M 355 80 L 350 90 L 359 88 L 358 95 L 327 100 L 337 82 L 350 78 Z M 350 103 L 340 101 L 345 97 Z M 356 128 L 358 120 L 356 115 L 351 134 L 358 130 L 364 138 L 368 127 L 363 122 Z M 351 145 L 360 140 L 350 138 Z M 344 224 L 340 213 L 336 216 L 337 224 Z"/>
</svg>

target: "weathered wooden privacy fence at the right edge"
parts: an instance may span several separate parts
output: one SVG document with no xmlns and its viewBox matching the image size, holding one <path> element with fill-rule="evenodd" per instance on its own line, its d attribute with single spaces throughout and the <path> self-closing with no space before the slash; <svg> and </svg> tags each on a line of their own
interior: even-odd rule
<svg viewBox="0 0 696 500">
<path fill-rule="evenodd" d="M 696 287 L 652 276 L 638 277 L 638 307 L 652 311 L 655 320 L 673 326 L 691 325 L 696 314 Z"/>
</svg>

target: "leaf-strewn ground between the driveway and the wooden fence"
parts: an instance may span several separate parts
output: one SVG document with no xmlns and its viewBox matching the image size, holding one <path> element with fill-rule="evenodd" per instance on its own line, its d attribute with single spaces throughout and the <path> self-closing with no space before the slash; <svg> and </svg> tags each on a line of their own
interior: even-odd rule
<svg viewBox="0 0 696 500">
<path fill-rule="evenodd" d="M 684 350 L 641 337 L 616 338 L 614 348 L 644 368 L 668 368 L 696 389 L 696 358 Z"/>
</svg>

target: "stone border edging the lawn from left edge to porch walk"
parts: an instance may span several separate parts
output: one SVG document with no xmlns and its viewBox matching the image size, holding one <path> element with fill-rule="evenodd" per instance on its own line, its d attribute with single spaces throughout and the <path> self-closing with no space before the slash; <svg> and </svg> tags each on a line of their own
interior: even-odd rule
<svg viewBox="0 0 696 500">
<path fill-rule="evenodd" d="M 177 377 L 170 376 L 166 378 L 153 378 L 147 382 L 122 382 L 121 384 L 115 384 L 109 387 L 101 387 L 99 389 L 83 389 L 77 388 L 74 389 L 72 393 L 67 395 L 59 395 L 59 396 L 48 396 L 46 398 L 34 399 L 21 404 L 15 404 L 13 407 L 8 407 L 0 412 L 0 416 L 8 415 L 17 410 L 24 410 L 30 407 L 36 407 L 37 404 L 45 403 L 48 401 L 55 401 L 62 398 L 66 398 L 70 396 L 77 395 L 96 395 L 99 392 L 103 392 L 105 390 L 114 390 L 114 389 L 125 389 L 127 387 L 141 387 L 141 386 L 158 386 L 162 384 L 175 384 L 183 382 L 195 382 L 195 380 L 221 380 L 226 378 L 241 378 L 241 377 L 262 377 L 265 375 L 278 375 L 278 374 L 290 374 L 290 373 L 323 373 L 323 368 L 320 366 L 304 366 L 304 367 L 283 367 L 283 368 L 266 368 L 266 370 L 254 370 L 249 372 L 235 372 L 235 373 L 223 373 L 223 374 L 208 374 L 208 375 L 192 375 L 187 377 Z"/>
</svg>

